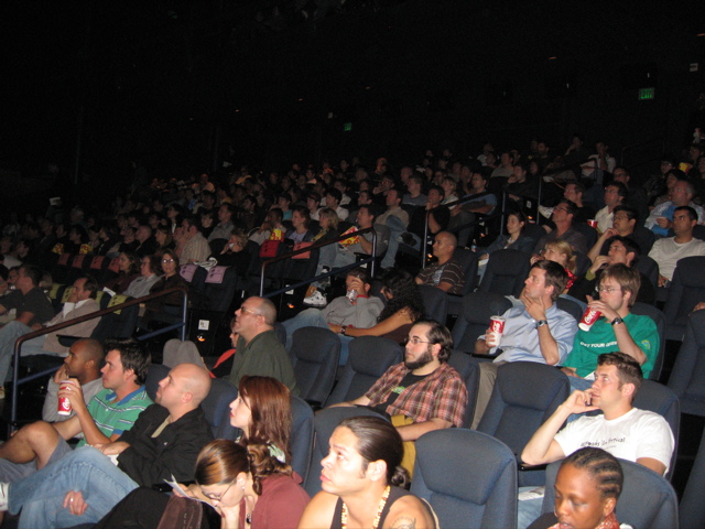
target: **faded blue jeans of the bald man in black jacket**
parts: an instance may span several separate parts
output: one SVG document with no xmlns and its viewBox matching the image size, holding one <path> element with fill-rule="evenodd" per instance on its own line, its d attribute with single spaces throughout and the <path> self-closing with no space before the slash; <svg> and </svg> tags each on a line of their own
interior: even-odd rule
<svg viewBox="0 0 705 529">
<path fill-rule="evenodd" d="M 93 446 L 83 446 L 30 477 L 10 485 L 8 510 L 20 516 L 20 529 L 96 523 L 139 485 Z M 83 493 L 88 509 L 75 516 L 64 508 L 69 490 Z"/>
</svg>

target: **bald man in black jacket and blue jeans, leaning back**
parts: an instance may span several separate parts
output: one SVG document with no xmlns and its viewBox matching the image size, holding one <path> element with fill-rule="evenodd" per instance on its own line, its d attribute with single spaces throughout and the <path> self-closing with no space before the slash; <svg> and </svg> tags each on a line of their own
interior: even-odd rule
<svg viewBox="0 0 705 529">
<path fill-rule="evenodd" d="M 0 510 L 22 509 L 21 527 L 96 523 L 139 486 L 172 475 L 193 481 L 196 457 L 213 441 L 200 408 L 209 390 L 204 368 L 180 364 L 159 382 L 156 403 L 116 442 L 84 446 L 26 479 L 0 483 Z"/>
</svg>

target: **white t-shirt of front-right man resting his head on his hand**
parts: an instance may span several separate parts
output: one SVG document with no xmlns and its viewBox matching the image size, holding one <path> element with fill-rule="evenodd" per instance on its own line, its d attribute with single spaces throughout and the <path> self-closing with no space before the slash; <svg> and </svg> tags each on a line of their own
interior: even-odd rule
<svg viewBox="0 0 705 529">
<path fill-rule="evenodd" d="M 674 445 L 673 433 L 665 419 L 637 408 L 611 421 L 605 420 L 603 414 L 582 417 L 568 423 L 554 439 L 566 456 L 592 446 L 634 463 L 642 457 L 651 457 L 663 463 L 666 472 Z"/>
</svg>

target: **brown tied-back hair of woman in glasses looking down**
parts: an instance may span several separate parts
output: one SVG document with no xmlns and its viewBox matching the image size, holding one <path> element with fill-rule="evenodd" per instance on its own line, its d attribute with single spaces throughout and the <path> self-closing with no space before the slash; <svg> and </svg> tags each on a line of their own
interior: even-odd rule
<svg viewBox="0 0 705 529">
<path fill-rule="evenodd" d="M 262 494 L 262 478 L 282 472 L 268 468 L 269 447 L 262 444 L 242 445 L 227 439 L 217 439 L 206 444 L 196 460 L 195 478 L 198 485 L 231 484 L 240 473 L 252 474 L 252 489 Z M 292 471 L 289 467 L 291 475 Z"/>
</svg>

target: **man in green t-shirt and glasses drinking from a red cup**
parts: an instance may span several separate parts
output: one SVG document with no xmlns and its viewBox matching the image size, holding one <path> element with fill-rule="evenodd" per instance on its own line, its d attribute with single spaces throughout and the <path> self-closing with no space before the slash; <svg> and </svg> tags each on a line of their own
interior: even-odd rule
<svg viewBox="0 0 705 529">
<path fill-rule="evenodd" d="M 599 280 L 599 300 L 588 307 L 600 312 L 589 331 L 578 330 L 573 350 L 563 363 L 573 389 L 587 389 L 595 381 L 597 357 L 603 353 L 620 350 L 641 366 L 643 378 L 649 378 L 659 353 L 659 332 L 649 316 L 632 314 L 641 277 L 626 264 L 611 264 Z"/>
</svg>

